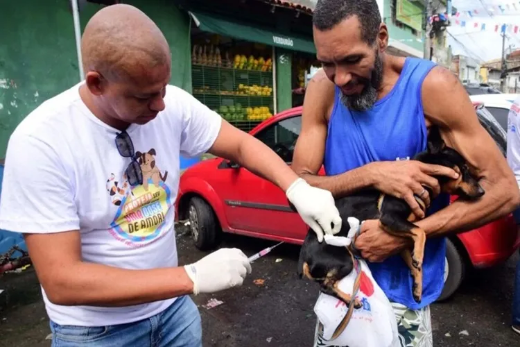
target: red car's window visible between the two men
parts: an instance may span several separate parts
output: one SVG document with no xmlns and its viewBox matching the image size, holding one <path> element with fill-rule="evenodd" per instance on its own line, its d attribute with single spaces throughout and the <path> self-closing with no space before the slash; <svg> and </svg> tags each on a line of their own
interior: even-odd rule
<svg viewBox="0 0 520 347">
<path fill-rule="evenodd" d="M 287 163 L 293 162 L 296 139 L 302 129 L 302 116 L 296 116 L 279 121 L 261 130 L 257 137 L 270 149 L 275 151 Z"/>
</svg>

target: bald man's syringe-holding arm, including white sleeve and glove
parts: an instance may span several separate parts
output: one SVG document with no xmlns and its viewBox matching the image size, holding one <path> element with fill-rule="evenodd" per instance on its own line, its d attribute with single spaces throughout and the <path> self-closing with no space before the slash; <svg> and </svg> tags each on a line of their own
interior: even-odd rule
<svg viewBox="0 0 520 347">
<path fill-rule="evenodd" d="M 0 228 L 24 232 L 37 276 L 52 303 L 149 303 L 232 287 L 241 284 L 246 270 L 250 271 L 243 253 L 225 248 L 189 265 L 198 270 L 196 278 L 186 267 L 130 270 L 84 262 L 75 189 L 66 166 L 53 146 L 41 139 L 16 131 L 11 136 L 0 200 Z"/>
</svg>

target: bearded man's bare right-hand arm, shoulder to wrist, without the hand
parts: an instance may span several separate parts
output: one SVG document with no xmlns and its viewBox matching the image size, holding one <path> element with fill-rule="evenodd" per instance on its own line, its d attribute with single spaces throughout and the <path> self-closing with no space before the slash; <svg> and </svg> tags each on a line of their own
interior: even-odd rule
<svg viewBox="0 0 520 347">
<path fill-rule="evenodd" d="M 426 119 L 440 127 L 448 146 L 473 167 L 485 194 L 476 202 L 455 201 L 417 222 L 428 237 L 478 228 L 510 213 L 520 202 L 511 169 L 492 137 L 480 126 L 467 92 L 446 69 L 436 67 L 425 78 L 422 100 Z M 453 102 L 456 101 L 456 102 Z"/>
</svg>

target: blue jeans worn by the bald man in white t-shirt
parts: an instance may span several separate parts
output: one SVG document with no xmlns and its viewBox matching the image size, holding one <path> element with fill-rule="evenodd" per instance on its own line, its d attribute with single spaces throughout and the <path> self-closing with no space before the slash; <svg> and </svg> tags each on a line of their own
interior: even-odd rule
<svg viewBox="0 0 520 347">
<path fill-rule="evenodd" d="M 51 321 L 52 347 L 202 347 L 200 313 L 189 296 L 164 312 L 135 323 L 100 327 L 58 325 Z"/>
</svg>

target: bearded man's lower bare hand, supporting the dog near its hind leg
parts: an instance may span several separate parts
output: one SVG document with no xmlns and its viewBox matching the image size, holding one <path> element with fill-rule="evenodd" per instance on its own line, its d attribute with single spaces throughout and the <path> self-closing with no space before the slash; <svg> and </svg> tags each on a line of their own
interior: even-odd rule
<svg viewBox="0 0 520 347">
<path fill-rule="evenodd" d="M 408 239 L 390 235 L 379 226 L 379 219 L 370 219 L 361 224 L 360 235 L 354 246 L 361 252 L 361 257 L 369 262 L 383 262 L 391 255 L 410 246 Z"/>
</svg>

